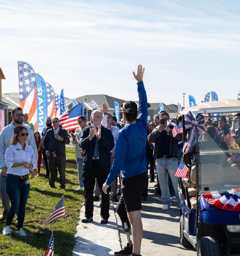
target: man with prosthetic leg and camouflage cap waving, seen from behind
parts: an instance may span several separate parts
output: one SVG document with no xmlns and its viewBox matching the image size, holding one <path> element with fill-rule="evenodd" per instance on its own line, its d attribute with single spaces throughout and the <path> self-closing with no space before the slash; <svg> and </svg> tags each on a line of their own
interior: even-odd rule
<svg viewBox="0 0 240 256">
<path fill-rule="evenodd" d="M 126 233 L 132 226 L 133 249 L 115 252 L 114 255 L 140 255 L 142 241 L 141 192 L 147 186 L 147 95 L 142 82 L 144 69 L 138 66 L 138 73 L 133 75 L 138 81 L 139 109 L 134 101 L 125 101 L 121 105 L 126 125 L 117 135 L 114 162 L 110 174 L 103 185 L 104 193 L 111 182 L 121 172 L 122 195 L 117 205 L 117 213 L 123 222 Z M 125 224 L 125 225 L 124 225 Z M 125 228 L 126 226 L 126 228 Z M 130 239 L 129 239 L 130 240 Z M 131 244 L 130 244 L 131 245 Z"/>
</svg>

